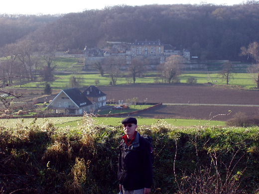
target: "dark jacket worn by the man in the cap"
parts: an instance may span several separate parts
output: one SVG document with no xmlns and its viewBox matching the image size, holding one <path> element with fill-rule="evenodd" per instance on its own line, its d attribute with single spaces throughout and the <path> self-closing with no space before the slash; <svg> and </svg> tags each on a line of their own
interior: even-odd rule
<svg viewBox="0 0 259 194">
<path fill-rule="evenodd" d="M 124 190 L 139 190 L 151 188 L 152 173 L 152 146 L 145 138 L 136 132 L 132 143 L 127 145 L 127 136 L 124 136 L 119 146 L 118 179 Z"/>
</svg>

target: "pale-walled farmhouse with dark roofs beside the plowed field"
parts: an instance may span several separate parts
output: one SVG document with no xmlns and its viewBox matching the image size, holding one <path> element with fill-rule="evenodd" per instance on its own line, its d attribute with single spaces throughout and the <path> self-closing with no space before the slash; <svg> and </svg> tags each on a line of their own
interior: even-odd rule
<svg viewBox="0 0 259 194">
<path fill-rule="evenodd" d="M 52 113 L 83 114 L 93 112 L 106 105 L 106 94 L 95 86 L 90 86 L 83 93 L 78 88 L 62 90 L 47 105 Z"/>
</svg>

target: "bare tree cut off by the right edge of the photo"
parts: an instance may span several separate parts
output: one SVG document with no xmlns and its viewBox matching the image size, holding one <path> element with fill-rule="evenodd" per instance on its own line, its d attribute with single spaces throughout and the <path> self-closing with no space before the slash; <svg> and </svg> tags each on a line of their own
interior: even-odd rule
<svg viewBox="0 0 259 194">
<path fill-rule="evenodd" d="M 259 88 L 259 43 L 253 42 L 248 45 L 248 48 L 241 47 L 240 56 L 252 57 L 255 60 L 255 63 L 251 68 L 248 69 L 248 72 L 252 73 L 255 82 L 257 83 L 257 88 Z M 257 76 L 255 73 L 257 72 Z"/>
</svg>

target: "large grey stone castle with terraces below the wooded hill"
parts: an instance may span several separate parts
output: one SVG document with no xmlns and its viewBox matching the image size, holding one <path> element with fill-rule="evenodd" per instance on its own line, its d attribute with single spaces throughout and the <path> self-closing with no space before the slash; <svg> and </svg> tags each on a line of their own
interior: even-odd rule
<svg viewBox="0 0 259 194">
<path fill-rule="evenodd" d="M 91 70 L 91 66 L 98 62 L 104 62 L 107 57 L 115 57 L 118 61 L 125 65 L 130 64 L 132 59 L 147 59 L 147 66 L 154 69 L 159 64 L 165 63 L 165 59 L 171 55 L 180 55 L 186 59 L 186 63 L 190 61 L 190 52 L 187 49 L 176 50 L 170 44 L 163 44 L 157 41 L 138 41 L 133 43 L 127 42 L 107 42 L 104 49 L 92 48 L 85 52 L 85 70 Z"/>
</svg>

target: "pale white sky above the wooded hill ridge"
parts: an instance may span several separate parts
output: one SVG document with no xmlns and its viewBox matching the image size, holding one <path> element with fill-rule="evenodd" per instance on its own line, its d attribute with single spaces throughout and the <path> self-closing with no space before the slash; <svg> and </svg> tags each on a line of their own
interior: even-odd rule
<svg viewBox="0 0 259 194">
<path fill-rule="evenodd" d="M 240 4 L 246 0 L 1 0 L 0 14 L 58 14 L 102 9 L 119 4 Z"/>
</svg>

